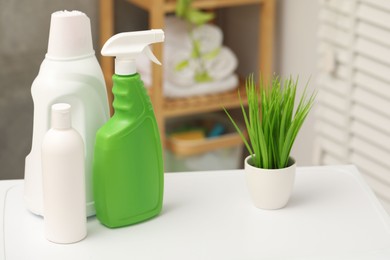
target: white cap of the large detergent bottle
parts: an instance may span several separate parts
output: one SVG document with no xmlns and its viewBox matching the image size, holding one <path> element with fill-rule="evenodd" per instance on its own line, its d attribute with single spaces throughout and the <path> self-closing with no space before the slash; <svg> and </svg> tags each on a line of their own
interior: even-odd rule
<svg viewBox="0 0 390 260">
<path fill-rule="evenodd" d="M 94 54 L 88 16 L 80 11 L 52 13 L 47 58 L 75 59 Z"/>
</svg>

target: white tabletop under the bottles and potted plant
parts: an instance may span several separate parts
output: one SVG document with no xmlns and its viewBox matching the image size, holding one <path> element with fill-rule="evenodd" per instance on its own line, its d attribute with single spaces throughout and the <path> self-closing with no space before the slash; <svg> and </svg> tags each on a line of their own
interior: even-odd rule
<svg viewBox="0 0 390 260">
<path fill-rule="evenodd" d="M 90 218 L 72 245 L 44 238 L 22 191 L 0 182 L 0 259 L 390 259 L 389 217 L 353 166 L 298 168 L 275 211 L 251 204 L 242 170 L 166 174 L 158 217 L 119 229 Z"/>
</svg>

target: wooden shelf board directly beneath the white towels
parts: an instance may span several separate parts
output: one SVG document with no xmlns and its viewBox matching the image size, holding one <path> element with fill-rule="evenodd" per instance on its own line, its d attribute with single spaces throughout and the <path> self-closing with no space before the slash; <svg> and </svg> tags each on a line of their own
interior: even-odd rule
<svg viewBox="0 0 390 260">
<path fill-rule="evenodd" d="M 240 83 L 238 89 L 219 94 L 177 99 L 165 98 L 163 104 L 164 117 L 206 113 L 222 108 L 237 108 L 240 106 L 238 91 L 240 91 L 243 103 L 246 105 L 247 98 L 243 82 Z"/>
</svg>

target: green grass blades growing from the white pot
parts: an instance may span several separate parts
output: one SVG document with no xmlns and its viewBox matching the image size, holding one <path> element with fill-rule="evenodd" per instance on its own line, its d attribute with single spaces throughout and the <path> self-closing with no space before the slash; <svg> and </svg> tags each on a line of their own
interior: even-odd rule
<svg viewBox="0 0 390 260">
<path fill-rule="evenodd" d="M 274 76 L 270 86 L 262 80 L 259 85 L 256 85 L 253 75 L 247 78 L 245 87 L 248 112 L 240 95 L 239 99 L 249 142 L 225 109 L 248 152 L 252 155 L 253 166 L 263 169 L 281 169 L 288 166 L 295 138 L 315 99 L 315 93 L 307 96 L 306 85 L 294 112 L 297 86 L 298 78 L 293 80 L 290 77 L 284 80 L 282 85 L 282 80 Z"/>
</svg>

